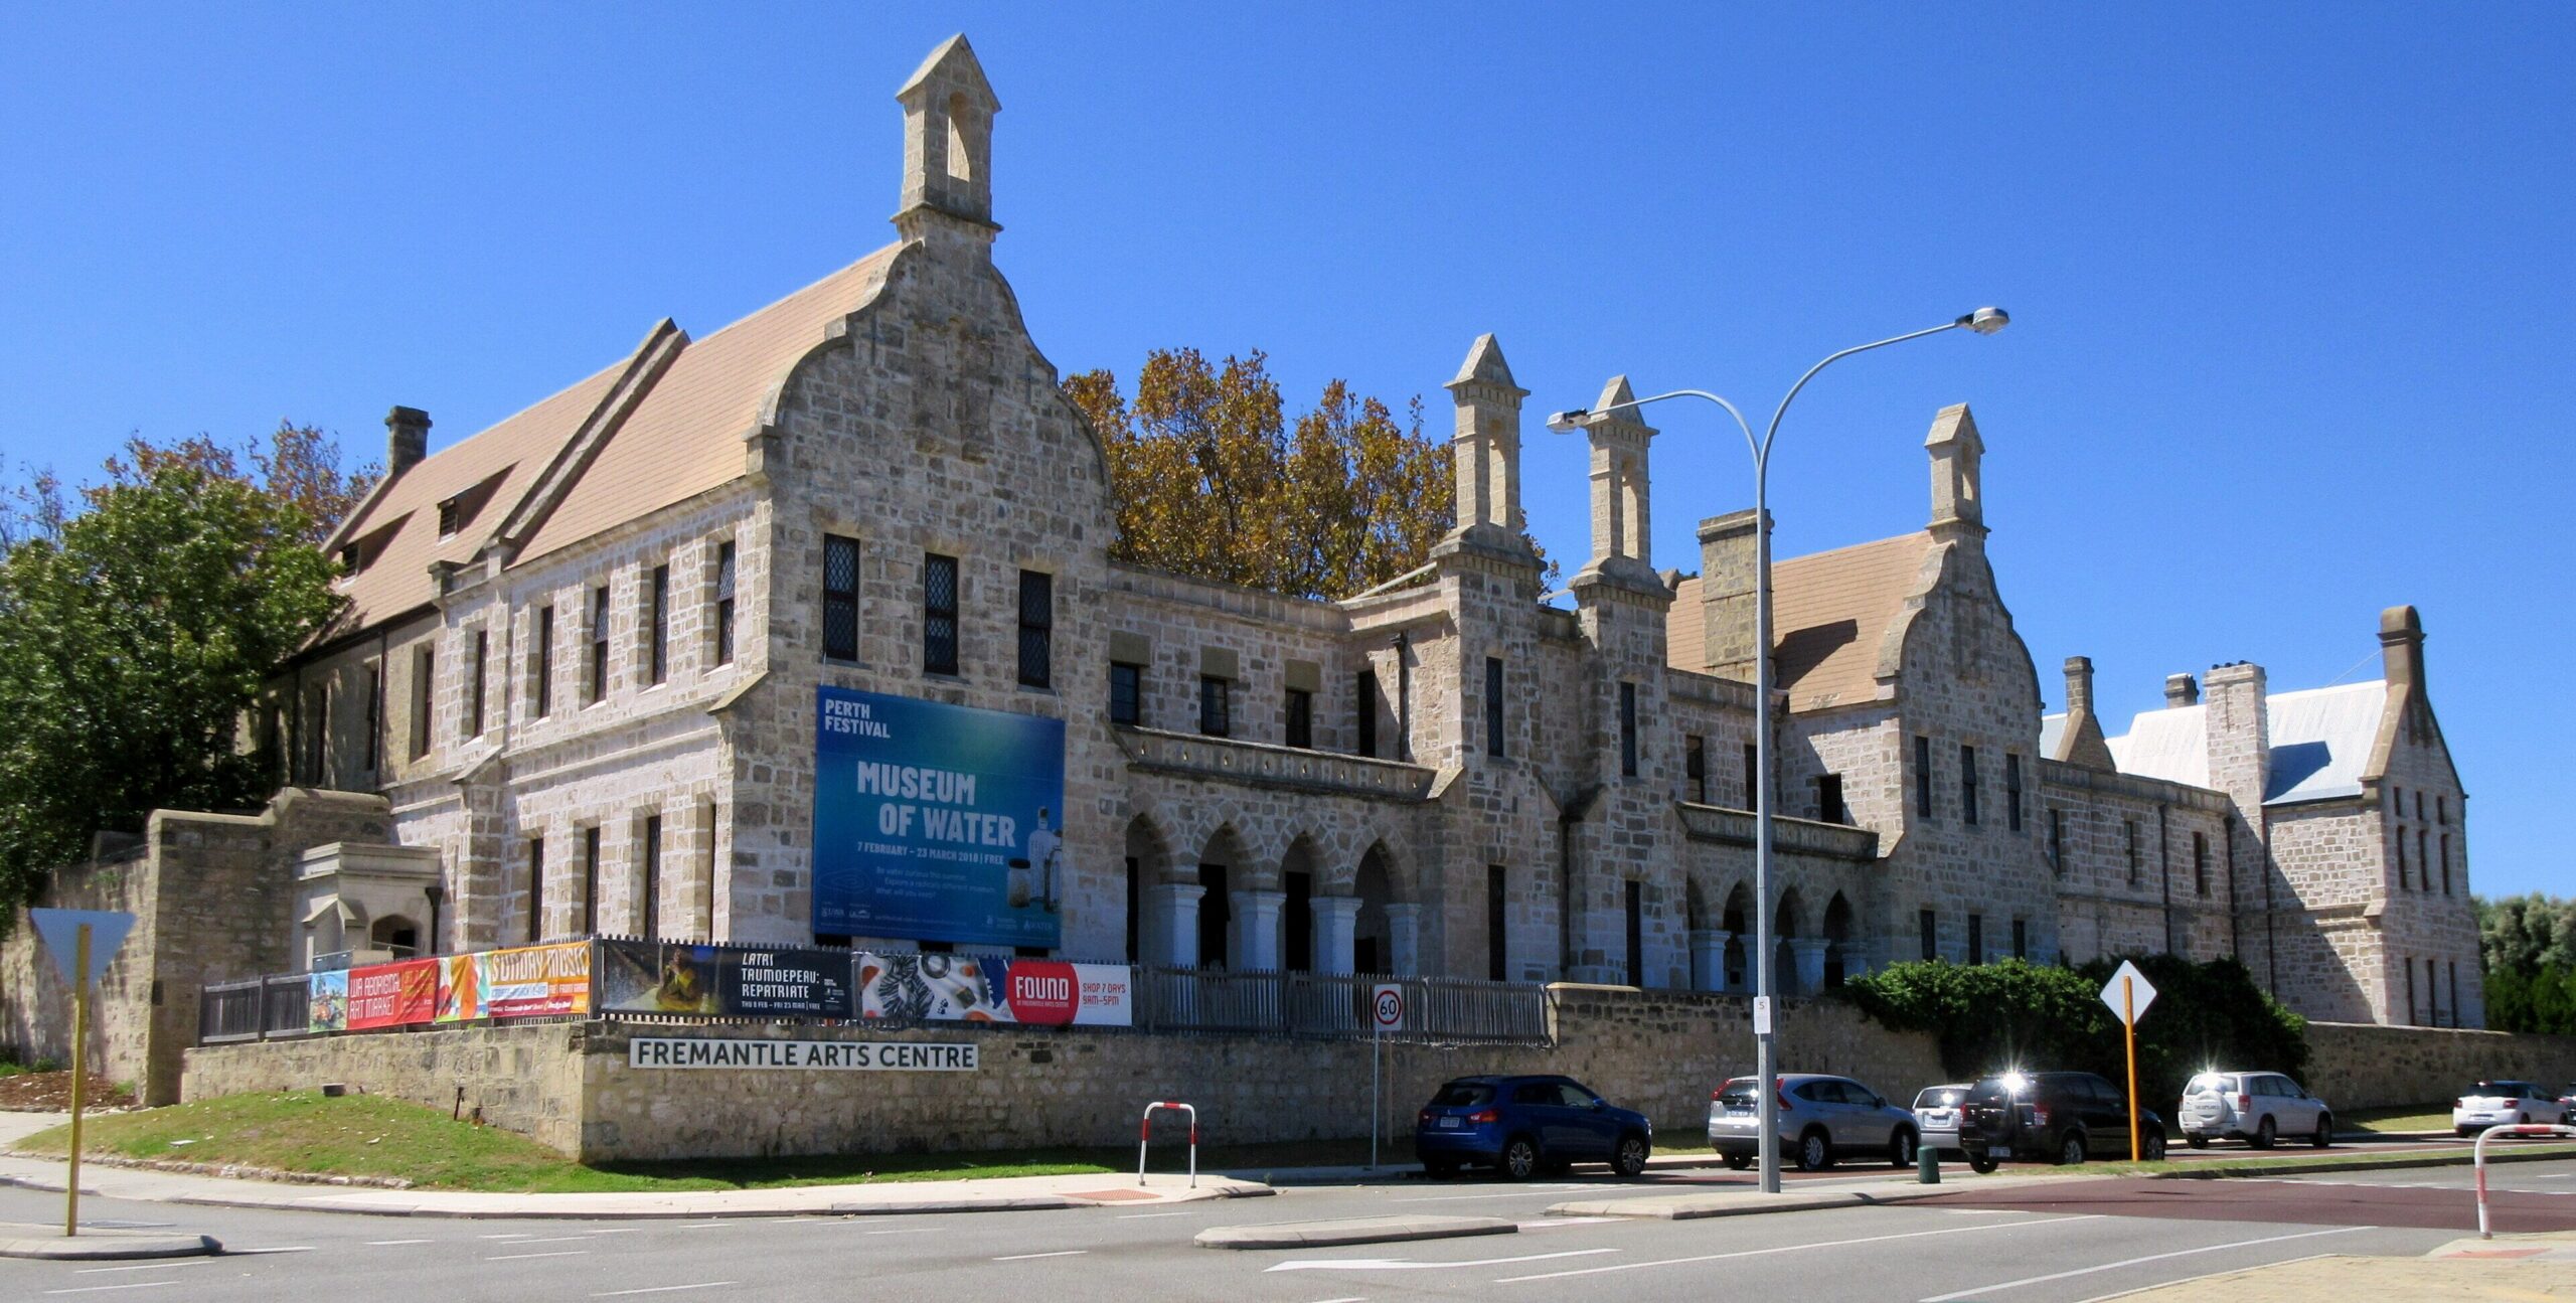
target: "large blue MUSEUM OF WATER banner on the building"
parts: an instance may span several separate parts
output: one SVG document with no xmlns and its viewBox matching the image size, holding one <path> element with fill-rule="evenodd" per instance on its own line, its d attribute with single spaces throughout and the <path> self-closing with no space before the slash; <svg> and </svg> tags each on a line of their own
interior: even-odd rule
<svg viewBox="0 0 2576 1303">
<path fill-rule="evenodd" d="M 819 688 L 814 932 L 1059 945 L 1064 721 Z"/>
</svg>

